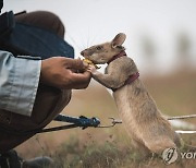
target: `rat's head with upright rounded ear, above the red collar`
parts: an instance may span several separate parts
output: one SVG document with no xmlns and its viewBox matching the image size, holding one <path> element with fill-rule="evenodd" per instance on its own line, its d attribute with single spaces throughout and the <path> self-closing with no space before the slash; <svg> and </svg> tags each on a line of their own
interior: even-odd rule
<svg viewBox="0 0 196 168">
<path fill-rule="evenodd" d="M 112 39 L 112 41 L 91 46 L 83 50 L 81 55 L 93 61 L 95 64 L 107 63 L 113 56 L 125 50 L 122 46 L 125 38 L 126 35 L 120 33 Z"/>
</svg>

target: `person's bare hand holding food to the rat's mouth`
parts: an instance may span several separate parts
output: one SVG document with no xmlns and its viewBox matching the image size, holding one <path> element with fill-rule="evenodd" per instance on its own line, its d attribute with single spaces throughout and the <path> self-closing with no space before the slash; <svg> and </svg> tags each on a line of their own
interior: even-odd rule
<svg viewBox="0 0 196 168">
<path fill-rule="evenodd" d="M 90 73 L 79 59 L 52 57 L 41 61 L 40 83 L 58 88 L 86 88 Z"/>
</svg>

